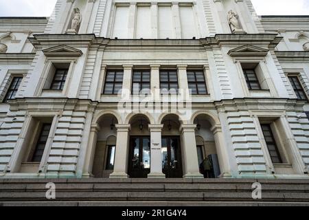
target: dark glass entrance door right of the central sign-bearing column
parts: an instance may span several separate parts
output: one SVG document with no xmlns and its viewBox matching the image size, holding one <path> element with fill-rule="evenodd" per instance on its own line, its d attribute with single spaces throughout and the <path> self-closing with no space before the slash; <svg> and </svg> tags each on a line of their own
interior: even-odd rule
<svg viewBox="0 0 309 220">
<path fill-rule="evenodd" d="M 179 137 L 162 137 L 162 172 L 166 178 L 182 178 Z"/>
</svg>

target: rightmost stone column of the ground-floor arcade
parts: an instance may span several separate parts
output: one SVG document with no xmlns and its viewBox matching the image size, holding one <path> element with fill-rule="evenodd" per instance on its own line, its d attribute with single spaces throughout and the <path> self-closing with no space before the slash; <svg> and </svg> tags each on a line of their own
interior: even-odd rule
<svg viewBox="0 0 309 220">
<path fill-rule="evenodd" d="M 220 124 L 215 124 L 211 127 L 211 132 L 214 133 L 216 143 L 216 151 L 218 154 L 221 177 L 231 177 L 231 169 L 229 166 L 229 157 L 225 149 L 224 137 Z"/>
</svg>

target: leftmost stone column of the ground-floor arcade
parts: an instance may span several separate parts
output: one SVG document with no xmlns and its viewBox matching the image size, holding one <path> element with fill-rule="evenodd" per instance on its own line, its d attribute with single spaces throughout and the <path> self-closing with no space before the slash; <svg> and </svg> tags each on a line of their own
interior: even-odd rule
<svg viewBox="0 0 309 220">
<path fill-rule="evenodd" d="M 84 170 L 82 172 L 82 177 L 90 177 L 92 175 L 93 159 L 95 155 L 95 147 L 97 146 L 98 132 L 100 131 L 100 126 L 98 124 L 92 124 L 89 134 L 89 142 L 86 153 L 86 158 L 84 160 Z"/>
</svg>

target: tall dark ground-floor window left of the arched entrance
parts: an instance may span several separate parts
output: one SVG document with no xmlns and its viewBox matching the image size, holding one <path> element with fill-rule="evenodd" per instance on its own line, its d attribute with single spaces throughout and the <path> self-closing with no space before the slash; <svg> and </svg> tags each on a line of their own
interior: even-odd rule
<svg viewBox="0 0 309 220">
<path fill-rule="evenodd" d="M 43 124 L 30 162 L 41 162 L 52 124 Z"/>
</svg>

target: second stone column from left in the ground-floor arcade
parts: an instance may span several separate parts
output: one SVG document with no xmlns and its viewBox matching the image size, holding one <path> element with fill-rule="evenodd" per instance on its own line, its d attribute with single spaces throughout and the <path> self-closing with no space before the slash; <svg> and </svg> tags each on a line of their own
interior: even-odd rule
<svg viewBox="0 0 309 220">
<path fill-rule="evenodd" d="M 114 171 L 110 178 L 128 178 L 128 148 L 130 124 L 116 124 L 117 142 L 115 151 Z"/>
</svg>

